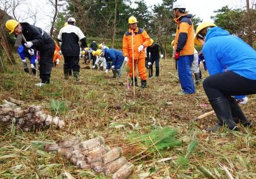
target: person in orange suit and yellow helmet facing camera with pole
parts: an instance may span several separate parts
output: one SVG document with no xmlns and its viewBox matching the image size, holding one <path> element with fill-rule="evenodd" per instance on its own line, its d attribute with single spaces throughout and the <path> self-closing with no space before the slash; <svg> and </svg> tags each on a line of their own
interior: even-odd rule
<svg viewBox="0 0 256 179">
<path fill-rule="evenodd" d="M 128 19 L 128 24 L 129 30 L 127 30 L 123 35 L 123 56 L 125 56 L 125 62 L 128 61 L 127 66 L 130 68 L 129 76 L 133 80 L 134 53 L 134 69 L 136 69 L 135 64 L 137 63 L 139 77 L 141 78 L 141 88 L 145 88 L 147 84 L 147 74 L 145 69 L 145 48 L 150 45 L 150 37 L 147 34 L 146 30 L 137 27 L 137 19 L 135 17 L 131 16 Z M 136 77 L 133 83 L 135 83 L 135 86 L 138 86 L 138 81 Z"/>
</svg>

